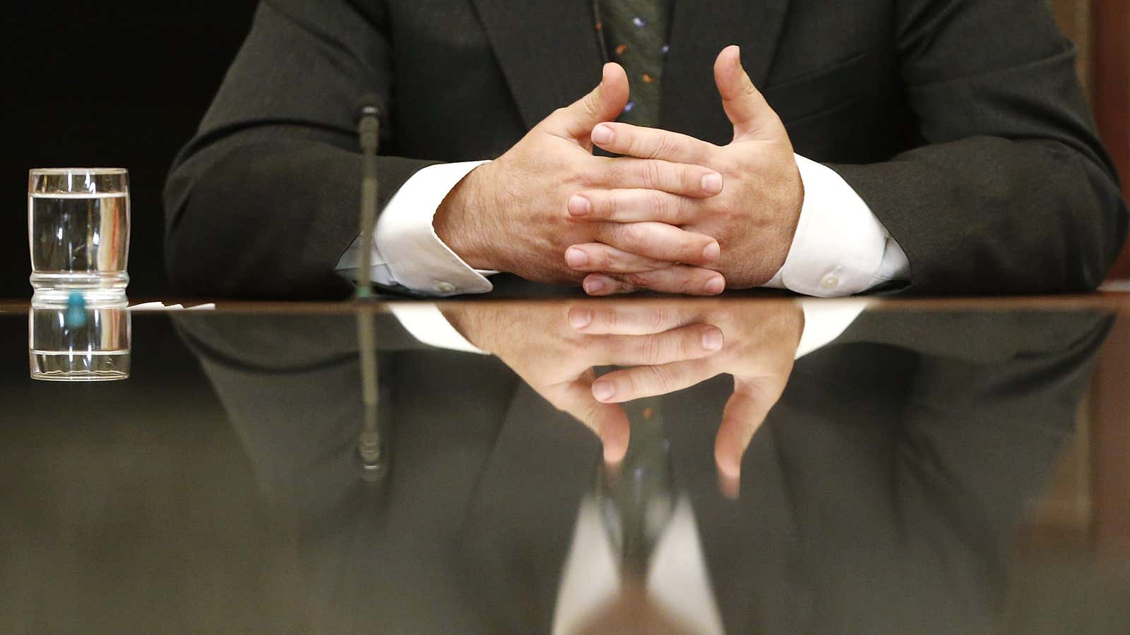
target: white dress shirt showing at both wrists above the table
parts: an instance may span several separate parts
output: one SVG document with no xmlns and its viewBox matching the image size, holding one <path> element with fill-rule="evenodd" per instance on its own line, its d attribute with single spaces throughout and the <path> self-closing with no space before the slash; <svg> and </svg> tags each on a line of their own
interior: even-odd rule
<svg viewBox="0 0 1130 635">
<path fill-rule="evenodd" d="M 909 280 L 906 254 L 855 190 L 832 168 L 800 155 L 796 159 L 805 201 L 789 255 L 766 286 L 834 297 Z M 438 297 L 494 288 L 487 279 L 494 271 L 472 269 L 432 226 L 447 193 L 484 163 L 433 165 L 405 182 L 376 223 L 370 272 L 374 282 Z M 338 271 L 350 278 L 360 262 L 359 243 L 358 237 L 338 261 Z"/>
</svg>

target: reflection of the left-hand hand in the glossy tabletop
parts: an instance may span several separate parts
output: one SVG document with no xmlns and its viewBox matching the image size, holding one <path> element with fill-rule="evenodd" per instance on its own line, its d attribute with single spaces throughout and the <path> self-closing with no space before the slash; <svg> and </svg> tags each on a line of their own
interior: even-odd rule
<svg viewBox="0 0 1130 635">
<path fill-rule="evenodd" d="M 608 462 L 618 462 L 627 451 L 628 418 L 618 403 L 593 397 L 593 367 L 664 367 L 722 348 L 718 327 L 692 322 L 582 332 L 570 325 L 570 308 L 560 304 L 468 304 L 443 313 L 475 346 L 496 355 L 554 407 L 597 433 Z"/>
</svg>

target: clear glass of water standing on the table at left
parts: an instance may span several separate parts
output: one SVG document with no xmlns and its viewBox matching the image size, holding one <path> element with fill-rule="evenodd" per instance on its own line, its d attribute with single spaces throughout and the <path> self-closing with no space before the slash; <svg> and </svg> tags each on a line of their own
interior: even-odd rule
<svg viewBox="0 0 1130 635">
<path fill-rule="evenodd" d="M 27 237 L 33 302 L 62 305 L 76 292 L 88 305 L 123 301 L 130 281 L 129 173 L 113 167 L 32 169 Z"/>
</svg>

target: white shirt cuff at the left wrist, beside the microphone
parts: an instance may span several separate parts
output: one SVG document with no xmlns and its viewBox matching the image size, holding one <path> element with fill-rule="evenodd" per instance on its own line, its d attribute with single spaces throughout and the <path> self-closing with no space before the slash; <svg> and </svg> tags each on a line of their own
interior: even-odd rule
<svg viewBox="0 0 1130 635">
<path fill-rule="evenodd" d="M 379 285 L 400 285 L 410 290 L 450 296 L 481 294 L 493 289 L 486 276 L 451 251 L 435 234 L 432 219 L 447 193 L 476 167 L 487 162 L 429 165 L 414 174 L 392 195 L 376 220 L 371 254 L 371 279 Z M 348 275 L 360 262 L 360 237 L 338 261 Z"/>
</svg>

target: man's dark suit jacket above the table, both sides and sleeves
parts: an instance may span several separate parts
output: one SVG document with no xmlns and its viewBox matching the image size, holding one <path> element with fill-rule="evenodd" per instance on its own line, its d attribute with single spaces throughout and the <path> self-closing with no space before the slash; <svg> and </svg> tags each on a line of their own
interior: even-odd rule
<svg viewBox="0 0 1130 635">
<path fill-rule="evenodd" d="M 389 105 L 381 205 L 496 157 L 592 88 L 591 0 L 266 0 L 165 193 L 183 293 L 341 296 L 355 104 Z M 711 66 L 740 44 L 798 154 L 906 252 L 909 290 L 1094 288 L 1125 208 L 1044 0 L 676 0 L 661 125 L 725 143 Z"/>
</svg>

